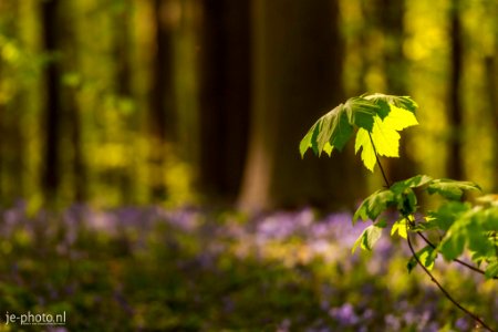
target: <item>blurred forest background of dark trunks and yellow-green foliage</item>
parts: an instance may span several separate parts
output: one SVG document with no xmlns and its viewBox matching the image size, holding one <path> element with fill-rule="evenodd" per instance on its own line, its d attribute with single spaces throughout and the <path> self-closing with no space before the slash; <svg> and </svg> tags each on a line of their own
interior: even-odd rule
<svg viewBox="0 0 498 332">
<path fill-rule="evenodd" d="M 411 95 L 393 179 L 498 191 L 496 0 L 1 0 L 0 203 L 351 207 L 380 174 L 314 121 Z"/>
</svg>

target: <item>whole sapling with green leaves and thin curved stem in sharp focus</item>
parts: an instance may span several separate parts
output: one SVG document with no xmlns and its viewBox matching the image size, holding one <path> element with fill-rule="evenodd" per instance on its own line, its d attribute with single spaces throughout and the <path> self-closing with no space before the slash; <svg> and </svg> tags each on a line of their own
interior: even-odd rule
<svg viewBox="0 0 498 332">
<path fill-rule="evenodd" d="M 486 330 L 495 331 L 456 300 L 432 271 L 440 255 L 486 279 L 498 279 L 498 196 L 485 195 L 471 203 L 465 198 L 465 193 L 480 191 L 478 185 L 427 175 L 391 183 L 382 166 L 380 157 L 400 157 L 400 132 L 418 125 L 417 107 L 408 96 L 375 93 L 352 97 L 320 117 L 309 129 L 299 146 L 301 156 L 308 149 L 318 156 L 322 153 L 331 156 L 334 149 L 342 151 L 356 134 L 355 153 L 361 151 L 363 165 L 372 173 L 378 165 L 385 188 L 370 195 L 355 211 L 353 224 L 357 220 L 371 220 L 372 224 L 365 227 L 353 251 L 357 247 L 372 250 L 382 230 L 390 228 L 391 236 L 397 234 L 404 238 L 412 252 L 408 272 L 419 266 L 453 304 Z M 415 189 L 418 195 L 438 195 L 442 203 L 436 209 L 423 210 Z M 394 222 L 387 222 L 386 212 L 392 208 L 398 216 Z M 439 240 L 430 240 L 430 232 Z M 414 248 L 414 236 L 423 240 L 423 248 Z M 471 253 L 471 263 L 459 258 L 464 252 Z"/>
</svg>

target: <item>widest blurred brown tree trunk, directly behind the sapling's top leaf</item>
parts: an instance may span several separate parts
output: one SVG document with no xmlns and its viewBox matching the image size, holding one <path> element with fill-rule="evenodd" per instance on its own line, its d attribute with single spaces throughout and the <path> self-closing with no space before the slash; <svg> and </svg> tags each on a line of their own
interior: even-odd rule
<svg viewBox="0 0 498 332">
<path fill-rule="evenodd" d="M 253 104 L 239 206 L 343 207 L 364 188 L 351 145 L 329 159 L 298 145 L 319 116 L 343 101 L 338 1 L 252 2 Z"/>
</svg>

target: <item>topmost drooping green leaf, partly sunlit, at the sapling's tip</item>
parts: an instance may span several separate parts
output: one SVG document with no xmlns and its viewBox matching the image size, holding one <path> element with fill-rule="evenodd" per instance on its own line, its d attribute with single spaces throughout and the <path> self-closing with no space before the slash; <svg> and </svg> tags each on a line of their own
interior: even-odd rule
<svg viewBox="0 0 498 332">
<path fill-rule="evenodd" d="M 322 152 L 330 156 L 334 148 L 342 151 L 357 127 L 356 153 L 362 149 L 362 160 L 373 172 L 375 151 L 378 156 L 398 157 L 397 132 L 418 124 L 416 107 L 408 96 L 375 93 L 349 98 L 320 117 L 308 131 L 299 145 L 301 157 L 309 148 L 319 156 Z"/>
</svg>

